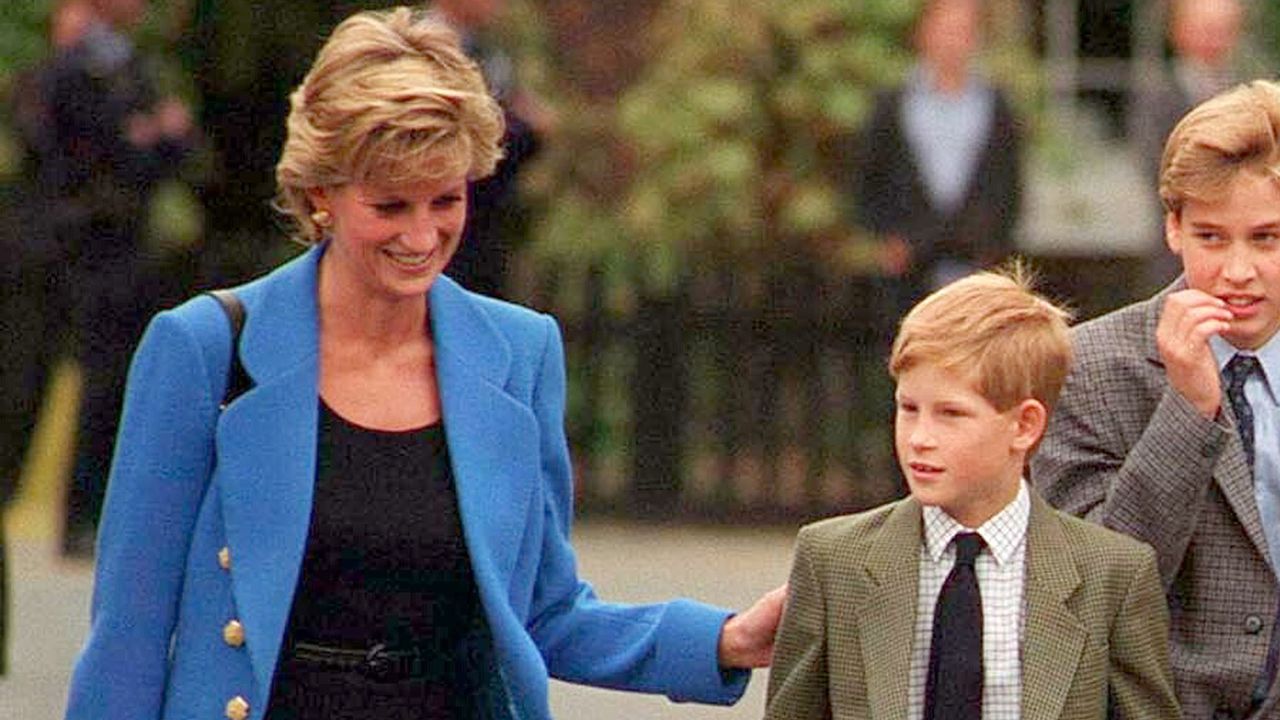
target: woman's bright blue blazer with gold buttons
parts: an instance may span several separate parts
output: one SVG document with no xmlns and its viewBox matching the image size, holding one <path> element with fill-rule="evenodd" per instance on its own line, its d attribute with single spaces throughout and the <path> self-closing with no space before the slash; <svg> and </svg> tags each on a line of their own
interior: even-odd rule
<svg viewBox="0 0 1280 720">
<path fill-rule="evenodd" d="M 266 710 L 316 473 L 316 273 L 324 247 L 237 290 L 253 388 L 219 410 L 228 323 L 206 296 L 156 315 L 133 359 L 99 537 L 92 620 L 68 717 L 224 717 Z M 458 509 L 488 620 L 489 717 L 547 719 L 548 675 L 731 703 L 728 612 L 613 605 L 577 577 L 549 316 L 439 278 L 429 293 Z M 224 552 L 225 550 L 225 552 Z M 243 626 L 243 642 L 230 621 Z M 228 637 L 230 642 L 228 642 Z M 236 715 L 232 712 L 230 715 Z"/>
</svg>

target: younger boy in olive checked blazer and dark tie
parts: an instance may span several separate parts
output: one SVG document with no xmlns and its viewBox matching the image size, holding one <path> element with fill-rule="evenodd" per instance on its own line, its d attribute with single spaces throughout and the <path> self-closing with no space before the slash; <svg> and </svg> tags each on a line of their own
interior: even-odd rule
<svg viewBox="0 0 1280 720">
<path fill-rule="evenodd" d="M 1023 479 L 1071 356 L 1065 313 L 1023 275 L 970 275 L 902 322 L 890 372 L 911 495 L 800 530 L 767 719 L 1180 716 L 1153 552 Z M 968 533 L 980 600 L 951 625 Z"/>
</svg>

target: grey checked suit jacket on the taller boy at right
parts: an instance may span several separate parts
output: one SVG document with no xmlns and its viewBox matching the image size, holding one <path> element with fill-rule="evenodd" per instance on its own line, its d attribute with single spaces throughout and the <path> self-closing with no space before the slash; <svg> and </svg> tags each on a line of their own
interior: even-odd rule
<svg viewBox="0 0 1280 720">
<path fill-rule="evenodd" d="M 1230 404 L 1207 420 L 1165 378 L 1156 324 L 1181 287 L 1074 331 L 1075 364 L 1032 482 L 1051 505 L 1155 547 L 1183 712 L 1247 717 L 1276 578 Z M 1272 687 L 1252 716 L 1280 717 L 1275 697 Z"/>
</svg>

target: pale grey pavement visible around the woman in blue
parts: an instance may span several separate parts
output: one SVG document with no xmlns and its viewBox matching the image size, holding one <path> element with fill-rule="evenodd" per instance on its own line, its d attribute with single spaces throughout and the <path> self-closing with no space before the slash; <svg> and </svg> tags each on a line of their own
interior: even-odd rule
<svg viewBox="0 0 1280 720">
<path fill-rule="evenodd" d="M 9 527 L 24 525 L 10 518 Z M 59 557 L 44 533 L 22 529 L 12 543 L 10 673 L 0 679 L 0 720 L 63 716 L 67 684 L 88 624 L 92 568 Z M 608 600 L 652 602 L 676 596 L 746 607 L 786 580 L 794 530 L 579 523 L 581 574 Z M 559 720 L 739 720 L 764 715 L 767 671 L 756 671 L 733 707 L 677 705 L 662 697 L 552 683 Z"/>
</svg>

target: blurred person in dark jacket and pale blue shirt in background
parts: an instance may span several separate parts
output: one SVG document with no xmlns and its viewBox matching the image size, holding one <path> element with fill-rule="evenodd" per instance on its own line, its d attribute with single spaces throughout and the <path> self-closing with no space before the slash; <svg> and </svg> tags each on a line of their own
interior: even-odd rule
<svg viewBox="0 0 1280 720">
<path fill-rule="evenodd" d="M 1018 124 L 978 74 L 980 0 L 927 0 L 906 82 L 879 94 L 850 169 L 860 223 L 883 240 L 892 322 L 933 288 L 1014 250 Z"/>
</svg>

